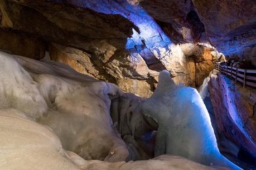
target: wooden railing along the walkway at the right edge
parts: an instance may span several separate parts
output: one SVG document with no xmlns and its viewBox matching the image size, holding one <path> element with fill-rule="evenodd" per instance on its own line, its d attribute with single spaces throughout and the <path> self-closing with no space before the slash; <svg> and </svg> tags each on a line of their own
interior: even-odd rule
<svg viewBox="0 0 256 170">
<path fill-rule="evenodd" d="M 256 88 L 256 70 L 255 69 L 241 69 L 231 66 L 221 66 L 218 63 L 214 65 L 215 69 L 220 71 L 226 77 L 234 78 L 235 83 L 243 83 L 243 87 L 250 86 Z"/>
</svg>

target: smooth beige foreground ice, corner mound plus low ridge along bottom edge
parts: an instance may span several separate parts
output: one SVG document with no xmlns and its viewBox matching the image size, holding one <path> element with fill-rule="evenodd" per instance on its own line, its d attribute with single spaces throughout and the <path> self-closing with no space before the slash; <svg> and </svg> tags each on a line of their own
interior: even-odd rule
<svg viewBox="0 0 256 170">
<path fill-rule="evenodd" d="M 86 161 L 74 152 L 65 151 L 50 128 L 16 109 L 0 109 L 0 128 L 1 169 L 214 169 L 168 155 L 128 163 Z"/>
</svg>

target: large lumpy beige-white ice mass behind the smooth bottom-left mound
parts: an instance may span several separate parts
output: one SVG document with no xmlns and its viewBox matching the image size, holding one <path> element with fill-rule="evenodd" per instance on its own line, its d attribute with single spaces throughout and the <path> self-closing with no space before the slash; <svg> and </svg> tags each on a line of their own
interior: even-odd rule
<svg viewBox="0 0 256 170">
<path fill-rule="evenodd" d="M 3 52 L 0 68 L 0 108 L 18 109 L 46 124 L 65 149 L 85 159 L 115 162 L 128 156 L 109 115 L 108 95 L 122 94 L 117 86 L 59 63 Z"/>
</svg>

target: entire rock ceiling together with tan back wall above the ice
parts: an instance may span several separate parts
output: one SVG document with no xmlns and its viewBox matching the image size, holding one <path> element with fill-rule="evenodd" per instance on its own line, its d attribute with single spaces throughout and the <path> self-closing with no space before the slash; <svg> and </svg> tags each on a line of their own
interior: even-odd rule
<svg viewBox="0 0 256 170">
<path fill-rule="evenodd" d="M 255 64 L 253 1 L 6 0 L 0 5 L 1 28 L 40 39 L 49 46 L 54 42 L 75 48 L 74 53 L 82 51 L 75 61 L 69 59 L 74 56 L 64 54 L 61 58 L 60 53 L 53 58 L 143 97 L 152 94 L 163 69 L 170 71 L 177 83 L 201 85 L 212 63 L 196 64 L 186 54 L 184 57 L 181 47 L 186 43 L 210 41 L 221 52 L 238 53 Z M 25 56 L 42 57 L 42 53 L 32 54 Z M 125 79 L 131 88 L 124 86 Z"/>
</svg>

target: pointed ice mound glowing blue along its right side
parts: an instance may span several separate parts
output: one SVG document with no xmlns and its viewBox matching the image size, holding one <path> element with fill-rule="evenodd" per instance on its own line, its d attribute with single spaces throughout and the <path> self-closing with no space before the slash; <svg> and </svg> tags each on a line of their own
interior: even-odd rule
<svg viewBox="0 0 256 170">
<path fill-rule="evenodd" d="M 210 116 L 196 89 L 177 86 L 168 71 L 160 72 L 143 114 L 158 123 L 155 156 L 172 154 L 205 165 L 240 169 L 219 152 Z"/>
</svg>

